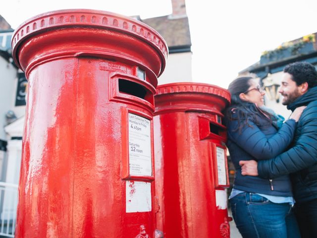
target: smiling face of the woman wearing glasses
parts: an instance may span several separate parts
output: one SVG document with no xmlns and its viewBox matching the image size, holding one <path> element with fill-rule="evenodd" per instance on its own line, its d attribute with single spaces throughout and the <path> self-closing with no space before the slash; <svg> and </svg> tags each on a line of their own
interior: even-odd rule
<svg viewBox="0 0 317 238">
<path fill-rule="evenodd" d="M 257 104 L 259 107 L 264 105 L 265 92 L 262 90 L 258 80 L 250 79 L 250 87 L 247 91 L 240 94 L 240 99 L 249 103 Z"/>
</svg>

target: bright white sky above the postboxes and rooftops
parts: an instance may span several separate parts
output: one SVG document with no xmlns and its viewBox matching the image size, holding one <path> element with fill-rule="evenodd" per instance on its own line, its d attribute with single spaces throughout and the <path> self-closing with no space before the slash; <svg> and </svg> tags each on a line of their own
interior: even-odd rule
<svg viewBox="0 0 317 238">
<path fill-rule="evenodd" d="M 149 18 L 171 13 L 170 0 L 10 0 L 2 15 L 13 29 L 51 10 L 89 8 Z M 317 32 L 317 0 L 186 0 L 195 82 L 227 88 L 261 53 Z"/>
</svg>

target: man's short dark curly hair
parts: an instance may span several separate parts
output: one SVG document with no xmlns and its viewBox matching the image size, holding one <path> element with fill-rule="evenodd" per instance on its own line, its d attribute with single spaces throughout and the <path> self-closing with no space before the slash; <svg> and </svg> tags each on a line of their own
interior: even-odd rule
<svg viewBox="0 0 317 238">
<path fill-rule="evenodd" d="M 315 66 L 311 63 L 290 63 L 285 66 L 284 72 L 292 75 L 292 79 L 296 82 L 297 86 L 305 82 L 308 83 L 308 88 L 312 88 L 317 85 L 317 71 Z"/>
</svg>

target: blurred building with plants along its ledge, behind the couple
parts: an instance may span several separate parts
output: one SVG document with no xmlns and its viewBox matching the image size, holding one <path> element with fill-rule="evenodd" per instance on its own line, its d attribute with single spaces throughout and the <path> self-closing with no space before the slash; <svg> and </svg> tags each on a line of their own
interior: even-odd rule
<svg viewBox="0 0 317 238">
<path fill-rule="evenodd" d="M 317 33 L 303 36 L 284 42 L 275 50 L 265 51 L 258 62 L 239 72 L 240 76 L 253 74 L 260 79 L 260 83 L 266 91 L 265 106 L 284 118 L 288 118 L 291 112 L 281 104 L 281 95 L 278 93 L 283 68 L 296 61 L 310 62 L 317 67 L 316 35 Z"/>
</svg>

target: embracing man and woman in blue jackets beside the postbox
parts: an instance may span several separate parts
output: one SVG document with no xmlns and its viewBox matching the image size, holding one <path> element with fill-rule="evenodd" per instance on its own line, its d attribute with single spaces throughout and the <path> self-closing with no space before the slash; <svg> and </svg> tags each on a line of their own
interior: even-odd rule
<svg viewBox="0 0 317 238">
<path fill-rule="evenodd" d="M 317 71 L 307 62 L 284 68 L 279 92 L 292 111 L 264 107 L 252 77 L 232 81 L 225 111 L 236 174 L 229 197 L 243 238 L 317 237 Z"/>
</svg>

